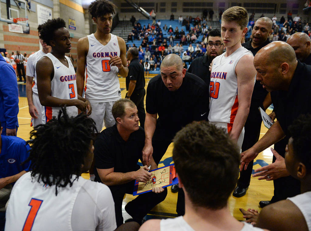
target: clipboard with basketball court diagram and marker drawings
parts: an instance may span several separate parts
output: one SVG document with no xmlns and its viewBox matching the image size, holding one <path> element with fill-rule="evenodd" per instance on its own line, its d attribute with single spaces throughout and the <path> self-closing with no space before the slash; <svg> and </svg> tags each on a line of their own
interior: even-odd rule
<svg viewBox="0 0 311 231">
<path fill-rule="evenodd" d="M 178 182 L 174 164 L 160 167 L 150 172 L 152 173 L 151 179 L 146 183 L 135 181 L 134 196 L 149 192 L 153 187 L 167 187 Z"/>
</svg>

